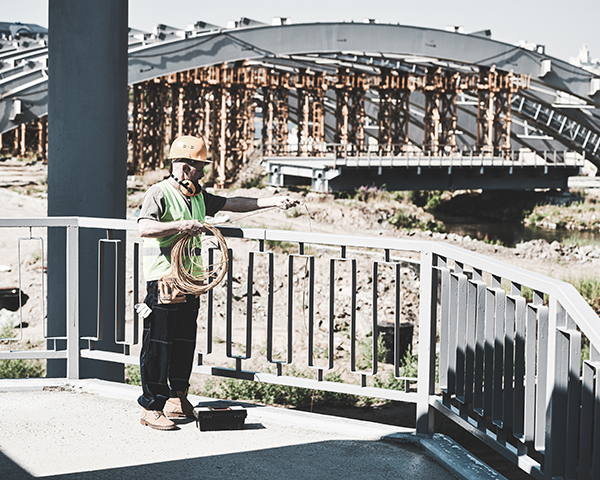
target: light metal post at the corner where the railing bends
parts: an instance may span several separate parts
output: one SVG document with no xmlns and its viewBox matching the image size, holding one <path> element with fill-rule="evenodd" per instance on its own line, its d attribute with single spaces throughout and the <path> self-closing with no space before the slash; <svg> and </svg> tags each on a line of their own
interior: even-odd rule
<svg viewBox="0 0 600 480">
<path fill-rule="evenodd" d="M 429 396 L 435 387 L 435 330 L 437 311 L 437 275 L 431 250 L 421 252 L 419 369 L 417 381 L 417 433 L 433 433 L 433 412 Z"/>
</svg>

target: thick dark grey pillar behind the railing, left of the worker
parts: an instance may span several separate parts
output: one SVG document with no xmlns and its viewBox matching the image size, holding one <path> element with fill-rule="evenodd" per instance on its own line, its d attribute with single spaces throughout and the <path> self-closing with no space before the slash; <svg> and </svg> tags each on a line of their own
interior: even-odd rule
<svg viewBox="0 0 600 480">
<path fill-rule="evenodd" d="M 49 216 L 126 217 L 127 16 L 125 0 L 49 0 Z M 48 329 L 60 335 L 65 332 L 65 233 L 49 230 Z M 98 239 L 106 235 L 80 231 L 82 336 L 96 332 Z M 123 287 L 124 270 L 118 276 Z M 124 305 L 119 308 L 124 312 Z M 114 318 L 105 317 L 105 339 L 98 348 L 121 351 L 113 332 Z M 64 361 L 48 362 L 48 376 L 65 373 Z M 124 375 L 123 365 L 92 360 L 81 361 L 80 374 L 114 381 Z"/>
</svg>

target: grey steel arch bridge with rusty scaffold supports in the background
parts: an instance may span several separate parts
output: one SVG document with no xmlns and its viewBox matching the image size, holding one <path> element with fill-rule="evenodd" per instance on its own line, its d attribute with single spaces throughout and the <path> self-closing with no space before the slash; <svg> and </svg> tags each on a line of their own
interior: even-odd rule
<svg viewBox="0 0 600 480">
<path fill-rule="evenodd" d="M 21 29 L 0 46 L 1 145 L 45 157 L 47 34 Z M 600 78 L 489 32 L 159 25 L 130 31 L 128 83 L 132 173 L 161 166 L 181 133 L 208 139 L 219 186 L 255 157 L 273 183 L 325 190 L 415 187 L 424 172 L 431 188 L 560 187 L 582 157 L 600 166 Z"/>
</svg>

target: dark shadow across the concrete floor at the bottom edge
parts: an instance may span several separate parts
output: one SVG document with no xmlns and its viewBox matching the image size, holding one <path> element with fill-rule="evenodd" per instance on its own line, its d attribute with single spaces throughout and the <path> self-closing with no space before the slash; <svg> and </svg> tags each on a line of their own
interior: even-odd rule
<svg viewBox="0 0 600 480">
<path fill-rule="evenodd" d="M 165 437 L 165 441 L 169 441 Z M 146 446 L 146 448 L 154 446 Z M 82 447 L 85 448 L 85 447 Z M 140 448 L 145 448 L 140 445 Z M 236 447 L 233 445 L 233 449 Z M 99 453 L 101 454 L 101 452 Z M 0 477 L 34 478 L 0 452 Z M 452 479 L 418 446 L 382 441 L 330 440 L 247 452 L 44 476 L 53 480 L 114 479 Z"/>
</svg>

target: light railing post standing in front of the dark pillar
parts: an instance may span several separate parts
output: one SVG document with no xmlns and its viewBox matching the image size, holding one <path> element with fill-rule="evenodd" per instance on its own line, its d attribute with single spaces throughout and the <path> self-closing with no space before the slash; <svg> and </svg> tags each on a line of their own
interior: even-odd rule
<svg viewBox="0 0 600 480">
<path fill-rule="evenodd" d="M 79 226 L 67 227 L 67 378 L 79 378 Z"/>
</svg>

